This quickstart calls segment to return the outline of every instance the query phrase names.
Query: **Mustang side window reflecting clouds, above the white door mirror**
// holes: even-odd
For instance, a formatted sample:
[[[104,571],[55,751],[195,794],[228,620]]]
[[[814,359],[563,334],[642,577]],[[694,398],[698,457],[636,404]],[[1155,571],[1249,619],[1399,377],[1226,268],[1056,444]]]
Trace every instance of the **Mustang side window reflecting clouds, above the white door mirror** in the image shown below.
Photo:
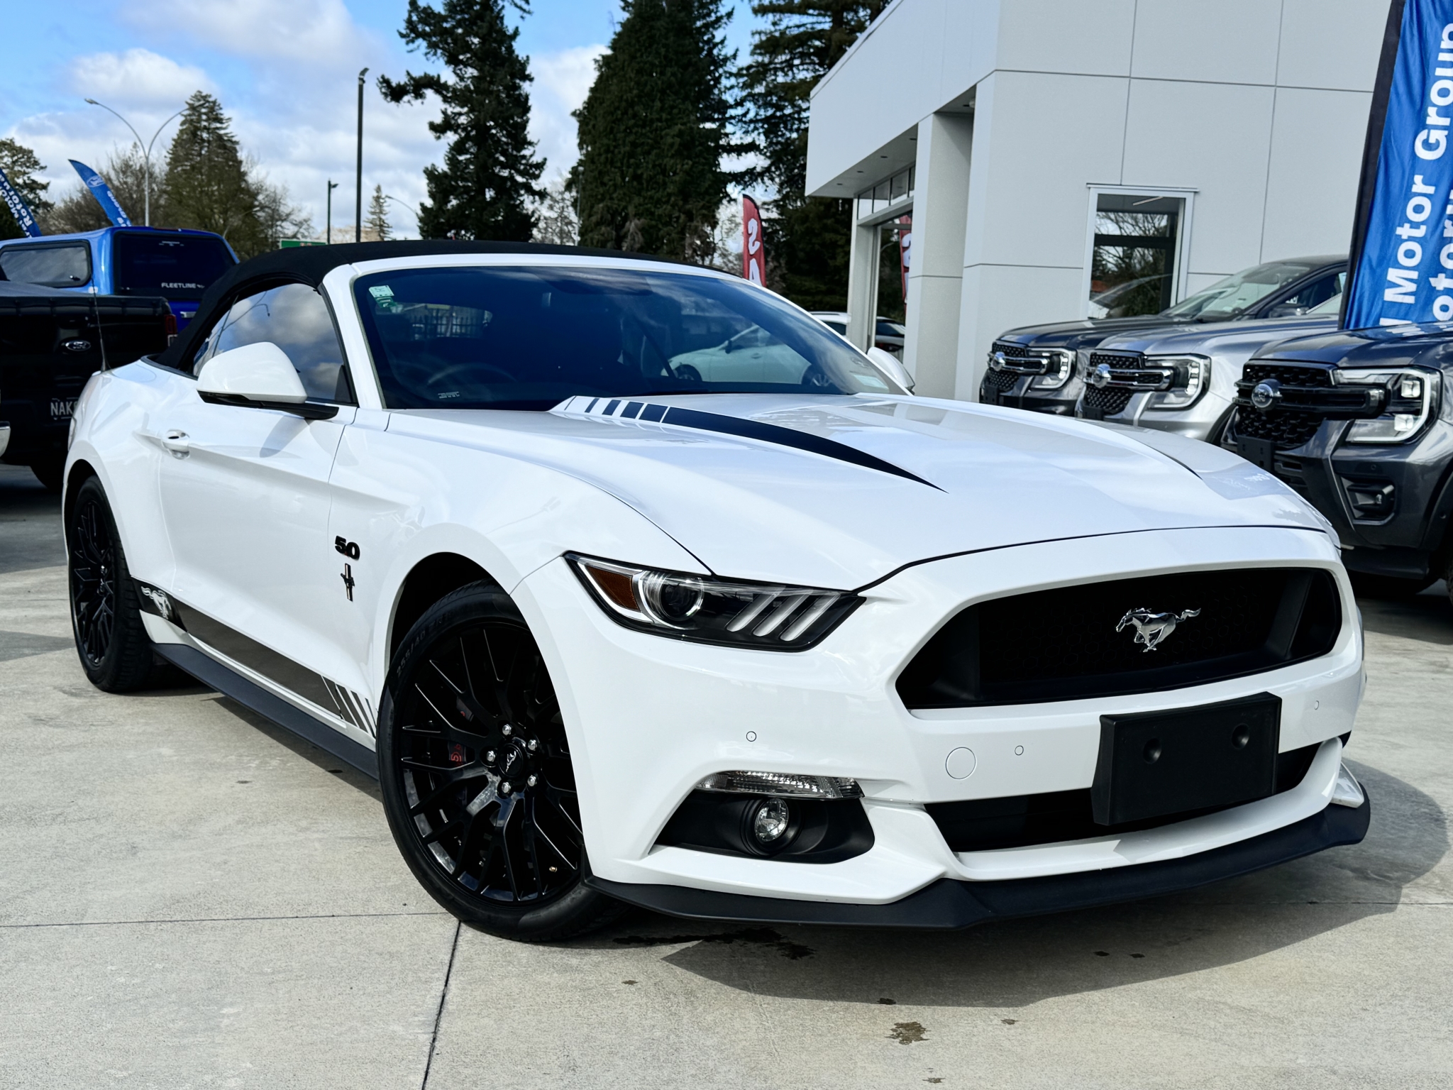
[[[201,372],[219,352],[263,340],[288,353],[309,398],[353,404],[343,347],[328,307],[304,283],[285,283],[234,302],[198,349],[193,372]]]

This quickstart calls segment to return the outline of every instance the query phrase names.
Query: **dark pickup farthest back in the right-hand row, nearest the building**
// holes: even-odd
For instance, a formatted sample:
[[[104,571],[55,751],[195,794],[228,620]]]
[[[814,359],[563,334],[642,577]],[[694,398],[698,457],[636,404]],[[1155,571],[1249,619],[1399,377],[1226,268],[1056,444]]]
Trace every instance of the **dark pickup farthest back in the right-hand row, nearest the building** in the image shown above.
[[[1090,350],[1107,337],[1191,323],[1296,317],[1340,292],[1345,275],[1345,256],[1292,257],[1242,269],[1159,314],[1008,330],[989,347],[979,401],[1071,416],[1084,389],[1077,365],[1088,365]]]

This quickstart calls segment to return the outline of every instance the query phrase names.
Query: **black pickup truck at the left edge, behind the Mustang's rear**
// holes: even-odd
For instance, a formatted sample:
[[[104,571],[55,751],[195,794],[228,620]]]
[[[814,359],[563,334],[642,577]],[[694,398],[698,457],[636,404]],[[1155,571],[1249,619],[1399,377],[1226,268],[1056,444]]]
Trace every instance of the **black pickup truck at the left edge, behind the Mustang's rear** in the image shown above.
[[[0,461],[29,465],[60,491],[71,410],[86,379],[161,352],[174,334],[161,298],[0,280]]]

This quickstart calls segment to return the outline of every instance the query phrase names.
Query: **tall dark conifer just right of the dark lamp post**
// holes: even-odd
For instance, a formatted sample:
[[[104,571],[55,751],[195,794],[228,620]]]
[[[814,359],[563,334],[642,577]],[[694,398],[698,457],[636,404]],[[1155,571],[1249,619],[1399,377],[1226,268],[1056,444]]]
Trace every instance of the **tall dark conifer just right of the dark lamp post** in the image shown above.
[[[525,0],[511,4],[529,13]],[[545,196],[536,186],[545,160],[535,158],[529,138],[532,77],[514,51],[519,35],[504,22],[504,0],[443,0],[442,9],[408,0],[400,38],[443,62],[449,76],[384,76],[378,87],[389,102],[421,100],[432,92],[443,106],[439,121],[429,122],[436,138],[449,138],[449,148],[442,167],[424,167],[424,238],[523,243],[535,228],[530,205]]]

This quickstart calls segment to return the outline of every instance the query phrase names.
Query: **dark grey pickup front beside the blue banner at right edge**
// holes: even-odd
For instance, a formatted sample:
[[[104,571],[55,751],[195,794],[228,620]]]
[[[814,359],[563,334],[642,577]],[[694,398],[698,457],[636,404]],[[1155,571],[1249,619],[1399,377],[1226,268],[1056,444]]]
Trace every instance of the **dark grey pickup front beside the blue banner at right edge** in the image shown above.
[[[1450,395],[1453,323],[1283,340],[1242,368],[1222,445],[1328,517],[1364,590],[1414,593],[1453,562]]]

